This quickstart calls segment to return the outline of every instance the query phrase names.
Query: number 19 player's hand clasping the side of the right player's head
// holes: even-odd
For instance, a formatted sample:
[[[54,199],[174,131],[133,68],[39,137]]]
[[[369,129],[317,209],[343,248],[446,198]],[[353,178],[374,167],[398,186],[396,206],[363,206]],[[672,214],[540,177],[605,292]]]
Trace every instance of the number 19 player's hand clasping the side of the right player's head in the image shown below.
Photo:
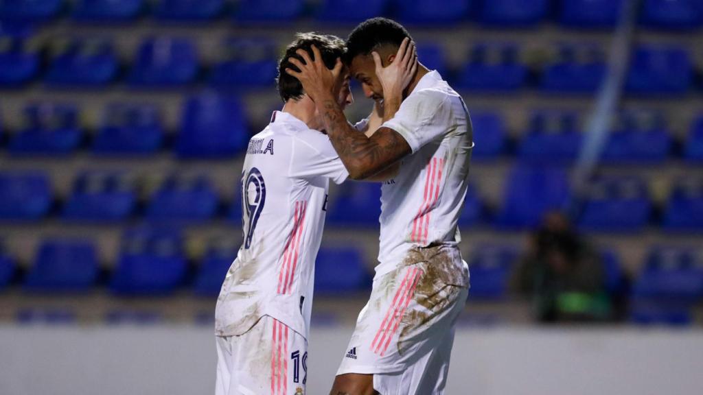
[[[406,37],[401,42],[392,63],[386,67],[383,67],[378,52],[373,51],[371,56],[376,66],[376,75],[383,87],[384,96],[401,96],[418,70],[418,56],[415,51],[415,43]]]

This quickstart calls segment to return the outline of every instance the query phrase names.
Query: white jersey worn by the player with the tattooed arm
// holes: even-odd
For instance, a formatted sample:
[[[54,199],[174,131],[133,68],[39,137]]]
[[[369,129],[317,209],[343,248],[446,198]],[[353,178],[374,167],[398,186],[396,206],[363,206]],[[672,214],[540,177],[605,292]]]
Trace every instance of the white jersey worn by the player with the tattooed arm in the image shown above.
[[[396,268],[413,246],[458,245],[473,148],[466,105],[437,71],[420,79],[382,127],[401,134],[413,153],[381,188],[376,277]]]

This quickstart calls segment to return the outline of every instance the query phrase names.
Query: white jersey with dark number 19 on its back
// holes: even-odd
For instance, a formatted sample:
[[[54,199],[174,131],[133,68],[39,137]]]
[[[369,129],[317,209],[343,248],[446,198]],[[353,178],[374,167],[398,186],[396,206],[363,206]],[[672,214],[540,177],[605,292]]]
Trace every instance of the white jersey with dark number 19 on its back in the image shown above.
[[[329,180],[348,175],[328,136],[287,112],[250,139],[244,240],[217,298],[216,335],[242,335],[266,315],[308,337]]]

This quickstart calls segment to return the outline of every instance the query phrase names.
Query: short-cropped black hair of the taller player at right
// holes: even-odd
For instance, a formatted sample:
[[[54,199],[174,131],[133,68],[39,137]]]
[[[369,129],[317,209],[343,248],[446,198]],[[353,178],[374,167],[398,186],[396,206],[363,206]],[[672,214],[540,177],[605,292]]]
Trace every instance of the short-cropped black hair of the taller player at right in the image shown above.
[[[348,65],[356,56],[369,55],[380,46],[392,45],[397,48],[406,37],[413,39],[405,27],[394,20],[380,17],[367,19],[349,33],[344,63]]]

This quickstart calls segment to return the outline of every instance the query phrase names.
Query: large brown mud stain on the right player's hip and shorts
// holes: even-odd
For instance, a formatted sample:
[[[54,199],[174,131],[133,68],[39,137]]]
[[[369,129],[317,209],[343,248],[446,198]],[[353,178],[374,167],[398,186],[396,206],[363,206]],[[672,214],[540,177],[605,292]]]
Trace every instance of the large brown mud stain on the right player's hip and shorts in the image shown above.
[[[460,254],[452,247],[437,245],[415,247],[408,252],[403,266],[415,266],[423,271],[413,294],[413,302],[401,318],[398,352],[403,354],[418,334],[431,330],[444,316],[463,287],[468,286],[468,275]]]

